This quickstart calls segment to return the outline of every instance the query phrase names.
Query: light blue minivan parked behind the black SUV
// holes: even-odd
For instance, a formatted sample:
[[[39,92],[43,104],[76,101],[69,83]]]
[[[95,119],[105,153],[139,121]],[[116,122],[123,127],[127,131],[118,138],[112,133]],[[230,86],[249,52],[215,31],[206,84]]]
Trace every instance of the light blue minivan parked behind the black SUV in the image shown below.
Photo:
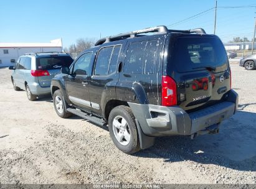
[[[14,90],[26,90],[27,98],[34,101],[37,95],[50,93],[52,78],[60,73],[60,68],[69,67],[72,62],[67,53],[26,53],[14,67],[9,67],[14,70],[11,75]]]

